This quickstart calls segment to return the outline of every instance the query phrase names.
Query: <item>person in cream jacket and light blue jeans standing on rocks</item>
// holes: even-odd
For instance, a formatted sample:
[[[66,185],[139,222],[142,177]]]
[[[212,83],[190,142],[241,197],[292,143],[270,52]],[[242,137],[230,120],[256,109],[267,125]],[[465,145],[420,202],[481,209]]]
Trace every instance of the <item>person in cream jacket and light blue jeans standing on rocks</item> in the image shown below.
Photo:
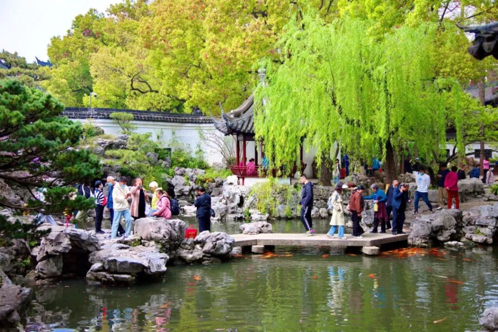
[[[120,224],[121,218],[126,221],[126,231],[123,237],[129,236],[131,233],[131,225],[133,224],[133,219],[130,216],[128,198],[131,197],[128,186],[126,186],[126,177],[122,176],[120,182],[116,183],[113,188],[113,207],[114,207],[114,219],[111,227],[111,237],[116,238],[118,234],[118,225]]]

